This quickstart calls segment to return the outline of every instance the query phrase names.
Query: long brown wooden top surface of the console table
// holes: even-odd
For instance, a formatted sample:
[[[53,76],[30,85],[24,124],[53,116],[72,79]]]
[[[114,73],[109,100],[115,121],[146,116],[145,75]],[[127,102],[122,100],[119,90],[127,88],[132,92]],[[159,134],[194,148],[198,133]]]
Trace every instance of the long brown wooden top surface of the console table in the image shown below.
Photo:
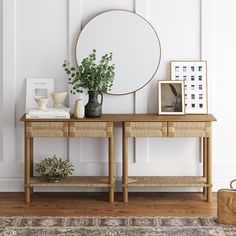
[[[212,114],[194,114],[194,115],[157,115],[157,114],[103,114],[96,118],[82,118],[76,119],[71,115],[70,119],[54,119],[54,118],[41,118],[41,119],[26,119],[26,115],[20,118],[23,122],[211,122],[216,121]]]

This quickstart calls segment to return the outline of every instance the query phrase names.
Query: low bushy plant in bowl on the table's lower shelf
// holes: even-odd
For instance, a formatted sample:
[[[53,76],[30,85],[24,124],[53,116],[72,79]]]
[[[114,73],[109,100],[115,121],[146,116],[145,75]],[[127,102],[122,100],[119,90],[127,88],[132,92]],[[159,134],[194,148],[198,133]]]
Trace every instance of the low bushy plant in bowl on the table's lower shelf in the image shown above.
[[[73,165],[66,160],[53,157],[45,158],[36,164],[36,171],[49,182],[58,182],[68,175],[72,175]]]

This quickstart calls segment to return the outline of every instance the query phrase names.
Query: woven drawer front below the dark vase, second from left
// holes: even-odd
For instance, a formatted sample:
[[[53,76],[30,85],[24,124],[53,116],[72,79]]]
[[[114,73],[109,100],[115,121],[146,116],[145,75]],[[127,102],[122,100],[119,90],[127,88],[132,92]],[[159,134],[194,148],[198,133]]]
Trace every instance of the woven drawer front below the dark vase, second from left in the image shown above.
[[[70,122],[70,137],[111,137],[112,122]]]

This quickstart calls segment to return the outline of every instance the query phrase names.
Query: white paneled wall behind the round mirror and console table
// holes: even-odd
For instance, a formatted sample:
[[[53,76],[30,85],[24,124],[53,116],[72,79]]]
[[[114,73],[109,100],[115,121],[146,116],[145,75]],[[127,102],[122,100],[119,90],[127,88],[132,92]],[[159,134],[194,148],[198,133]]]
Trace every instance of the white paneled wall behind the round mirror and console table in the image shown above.
[[[236,41],[233,33],[236,16],[231,10],[236,7],[234,0],[2,0],[1,3],[0,191],[23,190],[23,125],[19,118],[25,110],[25,79],[53,77],[56,91],[68,90],[62,68],[64,59],[75,63],[75,43],[83,26],[97,14],[113,9],[135,12],[153,25],[160,38],[162,59],[156,76],[142,90],[124,96],[105,95],[103,113],[156,113],[157,80],[170,78],[169,61],[208,60],[209,112],[220,118],[213,134],[214,190],[225,187],[234,177],[234,143],[227,140],[233,124],[233,116],[229,114],[234,110],[235,99],[231,95],[234,86],[229,86],[227,81],[222,83],[222,78],[232,80],[234,76],[235,53],[231,52]],[[130,78],[129,82],[134,79]],[[69,98],[71,107],[74,99]],[[83,100],[86,103],[86,95]],[[121,137],[121,124],[117,124],[115,168],[118,177],[121,176]],[[131,175],[201,174],[197,139],[137,138],[130,140],[129,147]],[[79,175],[102,175],[107,173],[106,151],[105,139],[70,139],[69,142],[37,139],[35,162],[57,154],[68,158]]]

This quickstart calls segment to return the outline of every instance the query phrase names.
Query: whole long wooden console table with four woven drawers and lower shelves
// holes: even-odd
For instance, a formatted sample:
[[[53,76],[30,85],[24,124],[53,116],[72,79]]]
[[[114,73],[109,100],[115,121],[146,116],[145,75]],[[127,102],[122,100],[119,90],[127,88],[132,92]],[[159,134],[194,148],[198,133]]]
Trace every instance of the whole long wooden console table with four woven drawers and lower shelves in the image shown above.
[[[108,187],[114,201],[113,124],[123,124],[123,200],[128,202],[128,187],[203,187],[207,201],[212,198],[212,122],[213,115],[158,116],[156,114],[104,114],[83,119],[20,119],[25,125],[25,202],[30,202],[34,187]],[[33,139],[37,137],[107,137],[108,176],[72,176],[59,183],[48,183],[33,176]],[[128,138],[197,137],[203,143],[202,176],[128,176]]]

